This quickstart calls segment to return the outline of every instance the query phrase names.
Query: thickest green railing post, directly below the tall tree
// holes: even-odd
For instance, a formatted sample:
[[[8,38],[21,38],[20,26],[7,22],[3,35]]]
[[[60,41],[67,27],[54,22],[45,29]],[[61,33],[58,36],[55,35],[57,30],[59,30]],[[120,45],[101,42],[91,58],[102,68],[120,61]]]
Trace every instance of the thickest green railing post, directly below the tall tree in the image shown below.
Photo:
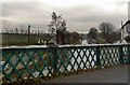
[[[56,47],[52,47],[52,51],[53,51],[53,73],[54,73],[54,76],[55,76],[56,73],[57,73],[57,67],[56,67],[56,63],[57,63]]]

